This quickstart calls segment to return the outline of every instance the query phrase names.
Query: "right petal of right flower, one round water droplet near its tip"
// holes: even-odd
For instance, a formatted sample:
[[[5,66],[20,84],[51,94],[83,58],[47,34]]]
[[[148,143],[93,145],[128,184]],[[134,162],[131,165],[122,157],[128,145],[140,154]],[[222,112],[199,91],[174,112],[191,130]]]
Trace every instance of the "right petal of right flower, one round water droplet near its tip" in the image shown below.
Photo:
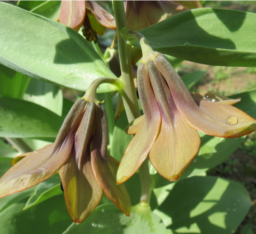
[[[200,101],[195,103],[172,65],[162,56],[154,59],[172,93],[183,119],[192,128],[215,137],[234,138],[256,130],[256,120],[233,106]]]

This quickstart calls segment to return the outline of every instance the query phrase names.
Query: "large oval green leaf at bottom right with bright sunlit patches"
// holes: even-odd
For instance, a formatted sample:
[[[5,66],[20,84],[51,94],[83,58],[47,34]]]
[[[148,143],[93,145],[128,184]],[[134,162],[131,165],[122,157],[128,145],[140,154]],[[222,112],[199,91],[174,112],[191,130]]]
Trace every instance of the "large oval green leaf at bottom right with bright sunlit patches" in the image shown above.
[[[156,213],[174,233],[231,234],[250,203],[246,189],[232,180],[192,177],[175,183]]]

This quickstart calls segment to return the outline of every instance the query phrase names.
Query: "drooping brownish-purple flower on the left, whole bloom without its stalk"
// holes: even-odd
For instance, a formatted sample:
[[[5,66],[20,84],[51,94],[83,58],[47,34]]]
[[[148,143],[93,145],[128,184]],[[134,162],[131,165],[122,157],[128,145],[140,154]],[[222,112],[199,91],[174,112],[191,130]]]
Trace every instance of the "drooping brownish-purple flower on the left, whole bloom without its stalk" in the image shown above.
[[[64,120],[55,143],[14,160],[16,164],[0,179],[0,197],[30,188],[59,171],[74,222],[83,222],[103,193],[128,216],[131,201],[125,185],[116,185],[117,168],[107,145],[104,108],[81,98]]]

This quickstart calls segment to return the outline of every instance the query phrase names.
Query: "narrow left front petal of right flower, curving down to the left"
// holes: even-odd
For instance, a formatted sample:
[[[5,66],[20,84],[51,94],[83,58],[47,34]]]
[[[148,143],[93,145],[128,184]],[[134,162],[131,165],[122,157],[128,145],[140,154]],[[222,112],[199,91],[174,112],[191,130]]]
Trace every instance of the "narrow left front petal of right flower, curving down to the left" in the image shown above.
[[[137,78],[145,121],[125,150],[117,171],[118,184],[128,180],[139,169],[157,138],[161,124],[159,108],[151,88],[145,63],[140,63]]]

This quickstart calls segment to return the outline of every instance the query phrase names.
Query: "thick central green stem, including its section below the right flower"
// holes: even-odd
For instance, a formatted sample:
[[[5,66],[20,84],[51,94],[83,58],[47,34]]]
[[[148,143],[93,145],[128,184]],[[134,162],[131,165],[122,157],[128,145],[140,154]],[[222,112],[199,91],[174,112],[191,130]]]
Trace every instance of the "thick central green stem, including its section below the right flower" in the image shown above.
[[[137,117],[140,117],[140,108],[138,105],[137,95],[134,86],[134,78],[131,65],[131,46],[128,45],[122,37],[121,31],[127,27],[125,8],[123,1],[113,1],[113,10],[116,19],[116,31],[118,38],[118,51],[121,65],[122,81],[125,84],[122,95],[128,122],[130,123]],[[141,181],[141,201],[149,203],[150,200],[150,174],[148,161],[140,166]]]

